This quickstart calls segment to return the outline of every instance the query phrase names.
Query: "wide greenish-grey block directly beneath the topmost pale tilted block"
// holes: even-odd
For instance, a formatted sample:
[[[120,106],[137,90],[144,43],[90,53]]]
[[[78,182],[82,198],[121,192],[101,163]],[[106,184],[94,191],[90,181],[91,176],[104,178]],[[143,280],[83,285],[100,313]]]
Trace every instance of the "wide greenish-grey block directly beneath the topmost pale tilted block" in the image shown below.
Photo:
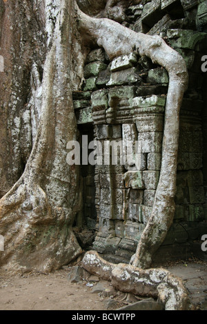
[[[136,68],[130,68],[127,70],[121,70],[118,72],[112,72],[110,74],[110,81],[106,83],[108,87],[127,85],[128,83],[141,83],[141,77],[139,77],[139,72]]]

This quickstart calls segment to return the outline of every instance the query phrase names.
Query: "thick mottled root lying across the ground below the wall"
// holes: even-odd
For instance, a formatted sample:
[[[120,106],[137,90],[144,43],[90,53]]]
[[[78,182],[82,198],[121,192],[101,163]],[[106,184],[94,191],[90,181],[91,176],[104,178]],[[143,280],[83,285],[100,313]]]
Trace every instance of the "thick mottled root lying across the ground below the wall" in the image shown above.
[[[157,298],[165,310],[190,310],[190,298],[184,282],[168,270],[143,270],[126,264],[113,264],[95,251],[87,252],[82,266],[100,279],[111,281],[115,289],[143,297]]]

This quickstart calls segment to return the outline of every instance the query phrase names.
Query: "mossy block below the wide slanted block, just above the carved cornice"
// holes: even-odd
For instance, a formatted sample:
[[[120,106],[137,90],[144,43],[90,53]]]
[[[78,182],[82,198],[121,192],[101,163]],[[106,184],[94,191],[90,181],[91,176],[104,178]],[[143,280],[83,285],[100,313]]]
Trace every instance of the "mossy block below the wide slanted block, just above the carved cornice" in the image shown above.
[[[118,88],[111,88],[108,92],[108,103],[111,108],[127,107],[135,97],[137,88],[133,85],[124,85]]]

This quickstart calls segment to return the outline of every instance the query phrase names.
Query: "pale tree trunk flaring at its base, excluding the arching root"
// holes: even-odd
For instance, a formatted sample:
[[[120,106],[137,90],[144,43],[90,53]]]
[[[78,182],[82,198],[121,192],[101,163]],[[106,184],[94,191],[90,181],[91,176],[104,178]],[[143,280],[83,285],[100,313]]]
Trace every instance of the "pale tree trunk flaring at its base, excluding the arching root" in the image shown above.
[[[6,3],[6,12],[13,13],[10,2]],[[26,1],[24,4],[28,5]],[[46,50],[41,111],[32,152],[19,181],[0,201],[1,235],[5,239],[1,265],[13,272],[47,272],[81,253],[71,230],[79,210],[79,169],[66,163],[66,145],[77,136],[72,90],[77,90],[81,82],[79,66],[83,65],[84,56],[73,7],[72,1],[59,4],[54,34],[50,34]],[[34,19],[33,12],[29,14]]]

